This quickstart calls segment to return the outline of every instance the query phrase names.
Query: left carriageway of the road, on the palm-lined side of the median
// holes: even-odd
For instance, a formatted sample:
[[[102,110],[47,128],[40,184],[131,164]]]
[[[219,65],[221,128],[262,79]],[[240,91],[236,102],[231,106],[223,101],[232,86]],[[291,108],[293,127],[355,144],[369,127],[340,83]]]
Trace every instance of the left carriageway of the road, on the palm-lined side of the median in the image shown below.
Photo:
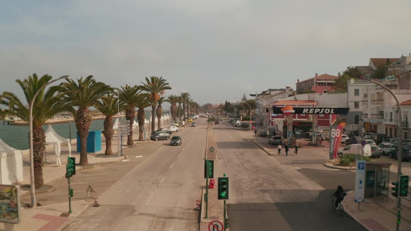
[[[181,146],[158,141],[164,145],[99,196],[100,207],[63,230],[198,230],[206,127],[181,129]]]

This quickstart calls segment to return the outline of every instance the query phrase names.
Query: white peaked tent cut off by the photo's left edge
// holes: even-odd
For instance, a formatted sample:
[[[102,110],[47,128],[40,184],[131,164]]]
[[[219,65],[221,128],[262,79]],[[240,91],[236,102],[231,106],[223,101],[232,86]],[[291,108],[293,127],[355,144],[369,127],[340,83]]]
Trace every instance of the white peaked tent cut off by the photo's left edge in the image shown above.
[[[14,149],[0,139],[0,184],[23,181],[23,151]]]

